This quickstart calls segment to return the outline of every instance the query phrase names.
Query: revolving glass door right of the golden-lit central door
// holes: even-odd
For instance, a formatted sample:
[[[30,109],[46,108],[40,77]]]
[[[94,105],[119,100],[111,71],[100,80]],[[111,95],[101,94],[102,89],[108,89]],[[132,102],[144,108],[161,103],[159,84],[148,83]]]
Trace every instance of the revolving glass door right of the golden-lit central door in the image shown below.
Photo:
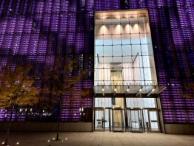
[[[128,110],[128,123],[129,131],[131,132],[143,132],[143,110],[130,109]]]

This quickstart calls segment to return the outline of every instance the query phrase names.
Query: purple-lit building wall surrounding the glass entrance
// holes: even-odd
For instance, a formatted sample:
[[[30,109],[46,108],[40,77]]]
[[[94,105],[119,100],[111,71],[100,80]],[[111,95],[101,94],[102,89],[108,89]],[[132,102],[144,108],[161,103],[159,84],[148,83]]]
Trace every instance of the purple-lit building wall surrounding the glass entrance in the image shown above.
[[[194,123],[194,100],[178,92],[194,77],[194,0],[0,0],[0,63],[6,64],[11,49],[15,60],[22,56],[21,62],[34,62],[34,69],[41,70],[73,49],[83,67],[89,68],[94,12],[141,8],[149,11],[158,82],[167,86],[161,94],[164,122]],[[92,88],[93,76],[77,87]],[[91,98],[64,100],[61,121],[82,121],[82,106],[88,110],[87,121],[92,121],[92,104]],[[5,113],[0,113],[1,120]]]

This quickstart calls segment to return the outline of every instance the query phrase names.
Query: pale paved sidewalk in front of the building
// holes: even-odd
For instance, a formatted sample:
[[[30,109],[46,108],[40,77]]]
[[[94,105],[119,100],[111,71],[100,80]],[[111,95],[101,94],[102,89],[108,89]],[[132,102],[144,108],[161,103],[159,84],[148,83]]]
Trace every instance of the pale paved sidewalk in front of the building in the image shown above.
[[[194,135],[161,133],[69,132],[52,141],[53,132],[12,132],[10,146],[194,146]],[[2,143],[5,132],[0,132]],[[48,142],[48,140],[51,140]]]

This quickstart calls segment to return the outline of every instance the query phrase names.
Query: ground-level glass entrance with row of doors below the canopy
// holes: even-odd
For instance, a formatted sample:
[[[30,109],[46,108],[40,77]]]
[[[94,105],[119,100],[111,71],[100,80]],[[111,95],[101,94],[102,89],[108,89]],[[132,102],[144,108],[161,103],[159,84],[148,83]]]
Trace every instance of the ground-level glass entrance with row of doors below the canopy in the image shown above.
[[[154,104],[155,100],[155,98],[95,98],[94,130],[160,132],[159,111]],[[126,104],[119,106],[115,104],[118,101]],[[140,104],[141,108],[134,107]]]

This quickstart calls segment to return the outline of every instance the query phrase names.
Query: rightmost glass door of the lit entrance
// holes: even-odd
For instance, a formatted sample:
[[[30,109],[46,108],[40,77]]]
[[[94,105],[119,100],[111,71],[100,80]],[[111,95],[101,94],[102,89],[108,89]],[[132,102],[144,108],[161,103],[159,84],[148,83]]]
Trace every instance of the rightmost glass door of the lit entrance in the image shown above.
[[[158,111],[148,110],[148,118],[149,118],[149,131],[150,132],[160,131],[158,123]]]

